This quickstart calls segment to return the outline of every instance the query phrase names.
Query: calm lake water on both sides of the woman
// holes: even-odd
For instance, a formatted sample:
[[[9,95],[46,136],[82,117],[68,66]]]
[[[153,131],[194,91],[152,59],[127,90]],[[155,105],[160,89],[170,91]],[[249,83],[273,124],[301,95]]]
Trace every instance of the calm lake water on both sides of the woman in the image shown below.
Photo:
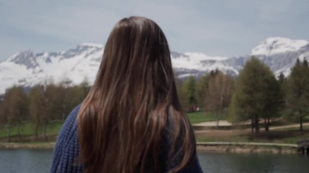
[[[280,154],[198,154],[204,172],[309,172],[309,157]],[[49,172],[51,150],[0,150],[0,172]]]

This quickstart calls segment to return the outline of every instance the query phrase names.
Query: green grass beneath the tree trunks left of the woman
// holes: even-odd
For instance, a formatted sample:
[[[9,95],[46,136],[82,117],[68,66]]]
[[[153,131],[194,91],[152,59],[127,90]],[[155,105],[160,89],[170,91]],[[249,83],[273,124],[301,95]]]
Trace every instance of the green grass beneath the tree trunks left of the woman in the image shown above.
[[[46,134],[47,135],[57,135],[62,125],[63,125],[62,121],[51,121],[47,125]],[[43,132],[44,132],[43,130],[44,130],[43,127],[39,128],[39,136],[43,135]],[[10,133],[12,137],[17,136],[18,135],[17,126],[12,126]],[[34,125],[31,122],[22,123],[20,126],[20,134],[21,136],[35,135]],[[7,137],[7,128],[6,127],[0,128],[0,138],[5,138],[5,137]]]

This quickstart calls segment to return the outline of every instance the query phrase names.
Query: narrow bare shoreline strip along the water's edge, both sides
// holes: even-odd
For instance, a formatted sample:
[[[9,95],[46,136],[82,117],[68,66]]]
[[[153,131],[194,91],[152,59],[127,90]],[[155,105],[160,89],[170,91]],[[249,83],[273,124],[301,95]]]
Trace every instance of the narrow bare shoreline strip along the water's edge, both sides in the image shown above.
[[[0,142],[0,149],[35,149],[52,150],[55,142],[17,143]],[[197,142],[197,151],[211,153],[270,153],[297,154],[297,145],[277,143],[248,143],[248,142]]]

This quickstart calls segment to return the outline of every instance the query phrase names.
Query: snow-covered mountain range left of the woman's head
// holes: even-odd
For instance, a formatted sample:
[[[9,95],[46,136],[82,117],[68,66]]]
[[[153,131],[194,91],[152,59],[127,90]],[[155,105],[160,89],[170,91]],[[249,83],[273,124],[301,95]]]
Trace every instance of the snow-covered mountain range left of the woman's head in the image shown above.
[[[63,52],[24,51],[0,62],[0,94],[12,85],[33,86],[48,80],[69,79],[79,84],[86,77],[93,82],[99,68],[103,45],[81,44]]]

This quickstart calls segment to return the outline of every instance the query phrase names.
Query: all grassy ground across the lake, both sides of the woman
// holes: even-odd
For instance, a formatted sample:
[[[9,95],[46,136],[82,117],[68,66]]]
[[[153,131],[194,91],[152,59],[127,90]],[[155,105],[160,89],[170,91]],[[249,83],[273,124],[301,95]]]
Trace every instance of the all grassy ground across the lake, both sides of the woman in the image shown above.
[[[188,117],[192,123],[199,123],[205,121],[214,121],[217,116],[215,114],[204,112],[188,113]],[[223,118],[225,119],[225,118]],[[286,122],[276,122],[276,125],[283,125]],[[51,121],[47,126],[47,136],[55,136],[59,133],[62,121]],[[303,126],[304,132],[299,132],[299,127],[290,127],[284,129],[272,129],[266,133],[261,127],[259,135],[251,134],[249,130],[240,129],[212,129],[207,130],[205,133],[197,133],[196,140],[199,142],[272,142],[272,143],[292,143],[302,139],[309,139],[309,125]],[[34,126],[31,122],[24,122],[20,126],[20,132],[23,137],[34,136]],[[43,127],[39,128],[39,136],[43,135]],[[17,126],[11,127],[11,136],[17,137]],[[0,127],[0,139],[7,137],[7,128]],[[55,138],[51,138],[49,141],[53,141]],[[40,143],[40,142],[33,142]]]

